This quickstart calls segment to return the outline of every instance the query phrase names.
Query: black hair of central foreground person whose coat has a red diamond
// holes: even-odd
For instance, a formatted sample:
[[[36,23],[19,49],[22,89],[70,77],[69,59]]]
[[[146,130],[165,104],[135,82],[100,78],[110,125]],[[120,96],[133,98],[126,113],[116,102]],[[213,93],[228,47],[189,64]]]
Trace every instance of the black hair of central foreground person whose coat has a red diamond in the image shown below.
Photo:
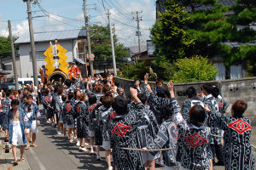
[[[113,110],[118,115],[125,115],[128,111],[128,102],[122,96],[117,96],[113,101]]]

